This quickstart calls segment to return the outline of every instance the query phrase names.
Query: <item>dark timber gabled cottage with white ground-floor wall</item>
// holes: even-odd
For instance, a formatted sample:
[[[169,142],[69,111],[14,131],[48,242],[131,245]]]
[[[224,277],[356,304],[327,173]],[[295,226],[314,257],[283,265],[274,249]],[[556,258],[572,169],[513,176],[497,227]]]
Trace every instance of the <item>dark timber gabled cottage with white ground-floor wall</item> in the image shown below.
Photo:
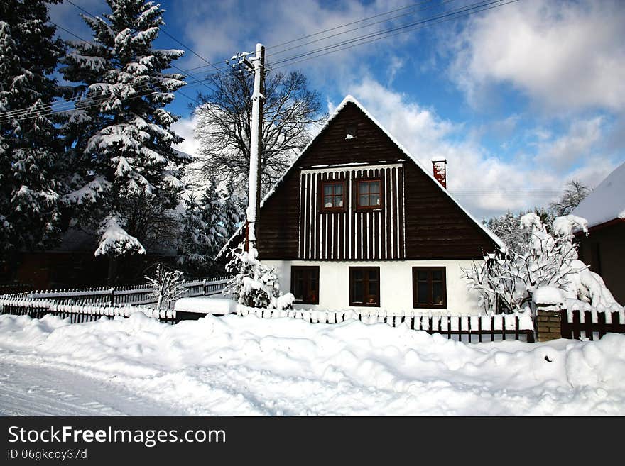
[[[445,159],[433,168],[347,96],[263,199],[259,259],[296,307],[477,311],[461,267],[502,243],[447,192]]]

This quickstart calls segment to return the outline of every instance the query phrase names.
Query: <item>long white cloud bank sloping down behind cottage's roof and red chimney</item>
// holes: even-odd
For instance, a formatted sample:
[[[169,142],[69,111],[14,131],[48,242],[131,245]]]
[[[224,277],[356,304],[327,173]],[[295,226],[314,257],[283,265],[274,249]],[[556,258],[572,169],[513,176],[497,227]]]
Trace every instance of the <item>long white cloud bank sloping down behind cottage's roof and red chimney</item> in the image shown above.
[[[464,125],[441,118],[371,78],[347,85],[344,94],[359,99],[425,170],[431,170],[433,155],[445,155],[450,192],[457,193],[457,199],[477,218],[546,206],[553,195],[538,196],[537,192],[560,190],[571,178],[594,186],[617,165],[594,150],[604,133],[600,117],[574,121],[558,138],[540,131],[533,152],[504,160],[482,148]]]

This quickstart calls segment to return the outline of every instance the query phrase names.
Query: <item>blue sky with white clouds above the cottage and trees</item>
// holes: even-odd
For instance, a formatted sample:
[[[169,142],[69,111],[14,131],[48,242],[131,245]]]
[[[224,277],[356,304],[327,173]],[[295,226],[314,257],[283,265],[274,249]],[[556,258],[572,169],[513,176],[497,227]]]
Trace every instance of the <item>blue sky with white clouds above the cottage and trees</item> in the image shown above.
[[[625,162],[625,2],[509,1],[163,1],[169,35],[156,45],[186,50],[176,65],[192,69],[181,91],[194,97],[216,72],[207,61],[223,67],[256,42],[276,63],[413,25],[276,68],[302,70],[328,111],[352,94],[426,167],[445,155],[450,191],[482,218],[546,205],[569,179],[594,187]],[[491,8],[467,15],[476,2]],[[79,13],[66,1],[50,16],[88,40]],[[180,95],[172,107],[180,148],[194,152],[189,105]]]

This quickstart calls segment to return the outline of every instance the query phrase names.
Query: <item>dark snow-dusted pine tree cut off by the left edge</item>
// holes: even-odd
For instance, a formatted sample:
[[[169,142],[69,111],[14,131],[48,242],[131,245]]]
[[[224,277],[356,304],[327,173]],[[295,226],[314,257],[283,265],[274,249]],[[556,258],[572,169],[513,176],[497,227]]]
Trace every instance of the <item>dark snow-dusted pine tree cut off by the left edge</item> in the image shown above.
[[[49,104],[64,53],[48,22],[56,0],[0,2],[0,250],[45,248],[60,232],[62,145]]]

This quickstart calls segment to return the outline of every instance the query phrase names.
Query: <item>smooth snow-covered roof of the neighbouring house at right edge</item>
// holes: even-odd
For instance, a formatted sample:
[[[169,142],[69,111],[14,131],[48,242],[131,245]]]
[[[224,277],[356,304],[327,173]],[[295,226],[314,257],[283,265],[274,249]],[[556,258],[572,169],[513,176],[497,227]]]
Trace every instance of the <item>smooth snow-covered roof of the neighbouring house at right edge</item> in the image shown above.
[[[625,162],[616,167],[572,213],[585,218],[588,228],[616,218],[625,219]]]

